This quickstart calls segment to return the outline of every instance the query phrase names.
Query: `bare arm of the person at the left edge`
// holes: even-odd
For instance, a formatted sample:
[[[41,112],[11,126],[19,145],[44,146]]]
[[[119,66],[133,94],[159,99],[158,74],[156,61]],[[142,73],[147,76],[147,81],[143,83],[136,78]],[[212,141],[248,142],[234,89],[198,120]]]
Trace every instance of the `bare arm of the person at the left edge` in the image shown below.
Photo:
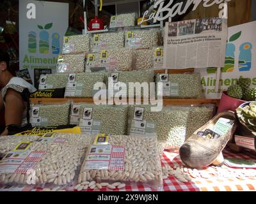
[[[8,89],[5,95],[5,124],[6,126],[15,124],[20,126],[22,123],[22,115],[24,111],[24,103],[20,96],[20,93],[13,89]],[[3,135],[8,135],[8,129],[6,128]]]

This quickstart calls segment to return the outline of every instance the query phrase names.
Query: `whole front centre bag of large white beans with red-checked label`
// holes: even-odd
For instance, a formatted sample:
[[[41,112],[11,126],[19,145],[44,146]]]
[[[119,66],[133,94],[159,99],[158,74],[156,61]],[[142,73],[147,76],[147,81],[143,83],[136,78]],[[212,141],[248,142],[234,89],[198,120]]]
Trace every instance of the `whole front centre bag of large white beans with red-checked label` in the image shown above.
[[[93,180],[108,183],[110,189],[115,189],[113,183],[120,182],[161,190],[163,175],[156,136],[95,136],[77,183],[83,185]]]

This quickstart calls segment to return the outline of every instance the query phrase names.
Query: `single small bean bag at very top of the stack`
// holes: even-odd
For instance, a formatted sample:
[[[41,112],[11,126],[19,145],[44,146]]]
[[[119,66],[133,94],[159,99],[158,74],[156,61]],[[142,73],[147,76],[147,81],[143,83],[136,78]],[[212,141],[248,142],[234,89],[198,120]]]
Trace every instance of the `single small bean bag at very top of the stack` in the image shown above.
[[[122,13],[113,15],[110,19],[109,27],[127,27],[134,26],[136,20],[136,13]]]

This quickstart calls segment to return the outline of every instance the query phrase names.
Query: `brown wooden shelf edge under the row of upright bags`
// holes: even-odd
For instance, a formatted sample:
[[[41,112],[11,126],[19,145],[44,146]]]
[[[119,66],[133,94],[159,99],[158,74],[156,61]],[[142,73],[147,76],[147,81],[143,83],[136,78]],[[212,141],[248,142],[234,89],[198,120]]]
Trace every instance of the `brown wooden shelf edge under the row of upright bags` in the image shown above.
[[[128,99],[126,99],[128,101]],[[75,103],[93,103],[93,98],[30,98],[33,104],[61,103],[74,101]],[[141,99],[143,102],[143,99]],[[214,103],[219,105],[220,99],[163,99],[164,105],[200,105],[204,103]]]

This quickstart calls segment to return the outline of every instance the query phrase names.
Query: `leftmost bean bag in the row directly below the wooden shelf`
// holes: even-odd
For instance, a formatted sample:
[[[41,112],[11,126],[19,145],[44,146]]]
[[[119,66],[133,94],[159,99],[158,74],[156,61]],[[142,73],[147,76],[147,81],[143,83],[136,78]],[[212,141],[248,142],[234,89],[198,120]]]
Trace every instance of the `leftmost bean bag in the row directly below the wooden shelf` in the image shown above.
[[[70,103],[30,105],[30,123],[33,127],[61,126],[68,124]]]

